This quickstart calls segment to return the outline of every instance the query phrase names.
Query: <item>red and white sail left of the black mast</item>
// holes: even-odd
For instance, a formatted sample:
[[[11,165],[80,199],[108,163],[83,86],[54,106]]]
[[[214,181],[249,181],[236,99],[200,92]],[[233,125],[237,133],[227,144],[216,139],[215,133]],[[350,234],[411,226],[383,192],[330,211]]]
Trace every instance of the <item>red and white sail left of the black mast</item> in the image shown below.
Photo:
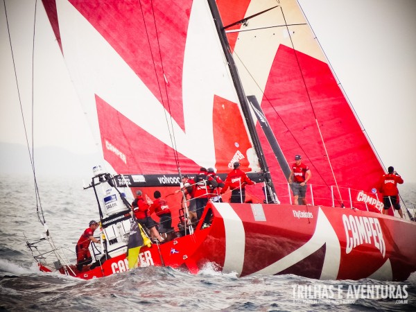
[[[207,3],[58,1],[56,15],[71,78],[116,173],[227,172],[235,160],[259,171]]]

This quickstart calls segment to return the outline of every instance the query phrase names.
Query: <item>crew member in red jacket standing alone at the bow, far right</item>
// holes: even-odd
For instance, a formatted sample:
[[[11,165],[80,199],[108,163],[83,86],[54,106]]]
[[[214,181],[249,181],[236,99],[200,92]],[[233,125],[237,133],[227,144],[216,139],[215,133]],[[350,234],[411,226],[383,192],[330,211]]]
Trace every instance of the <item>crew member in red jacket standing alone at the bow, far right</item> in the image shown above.
[[[388,214],[388,209],[393,206],[399,212],[401,218],[403,218],[399,200],[399,189],[397,189],[397,183],[403,184],[403,182],[399,173],[392,166],[388,167],[388,174],[380,178],[378,189],[383,194],[383,214]]]

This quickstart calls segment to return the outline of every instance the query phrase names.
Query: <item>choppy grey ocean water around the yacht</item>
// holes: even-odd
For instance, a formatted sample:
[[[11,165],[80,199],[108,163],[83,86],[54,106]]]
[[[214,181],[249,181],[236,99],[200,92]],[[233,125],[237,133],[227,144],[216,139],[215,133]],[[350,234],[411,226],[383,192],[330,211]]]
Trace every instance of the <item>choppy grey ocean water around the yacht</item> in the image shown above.
[[[37,182],[55,243],[74,250],[89,220],[98,216],[94,192],[84,191],[76,178]],[[405,184],[401,196],[411,207],[416,184]],[[416,311],[416,273],[406,281],[383,282],[238,278],[210,266],[198,275],[148,267],[90,281],[39,272],[25,245],[25,237],[35,241],[42,232],[33,177],[0,176],[0,201],[0,311]],[[394,288],[395,295],[383,297],[381,291],[371,297],[371,287]]]

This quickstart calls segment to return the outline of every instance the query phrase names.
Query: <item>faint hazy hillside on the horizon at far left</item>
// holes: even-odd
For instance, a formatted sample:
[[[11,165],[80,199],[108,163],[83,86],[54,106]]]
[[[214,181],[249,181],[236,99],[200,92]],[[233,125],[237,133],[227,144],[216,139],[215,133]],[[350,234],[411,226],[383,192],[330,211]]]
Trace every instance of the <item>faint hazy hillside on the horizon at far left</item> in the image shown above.
[[[103,163],[98,153],[79,155],[57,147],[35,148],[34,156],[35,171],[40,176],[89,177],[92,167]],[[28,148],[0,142],[0,173],[32,174]]]

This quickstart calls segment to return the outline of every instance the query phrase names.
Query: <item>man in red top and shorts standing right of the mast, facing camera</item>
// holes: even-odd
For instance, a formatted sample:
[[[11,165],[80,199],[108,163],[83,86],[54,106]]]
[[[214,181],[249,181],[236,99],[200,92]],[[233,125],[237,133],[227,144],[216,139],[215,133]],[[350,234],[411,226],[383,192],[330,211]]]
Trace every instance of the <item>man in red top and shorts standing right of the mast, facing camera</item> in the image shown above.
[[[306,182],[311,179],[312,174],[309,166],[302,164],[302,157],[295,156],[295,164],[292,165],[291,175],[289,175],[288,182],[291,184],[293,191],[293,199],[295,205],[299,205],[297,198],[302,199],[303,205],[306,205]]]

